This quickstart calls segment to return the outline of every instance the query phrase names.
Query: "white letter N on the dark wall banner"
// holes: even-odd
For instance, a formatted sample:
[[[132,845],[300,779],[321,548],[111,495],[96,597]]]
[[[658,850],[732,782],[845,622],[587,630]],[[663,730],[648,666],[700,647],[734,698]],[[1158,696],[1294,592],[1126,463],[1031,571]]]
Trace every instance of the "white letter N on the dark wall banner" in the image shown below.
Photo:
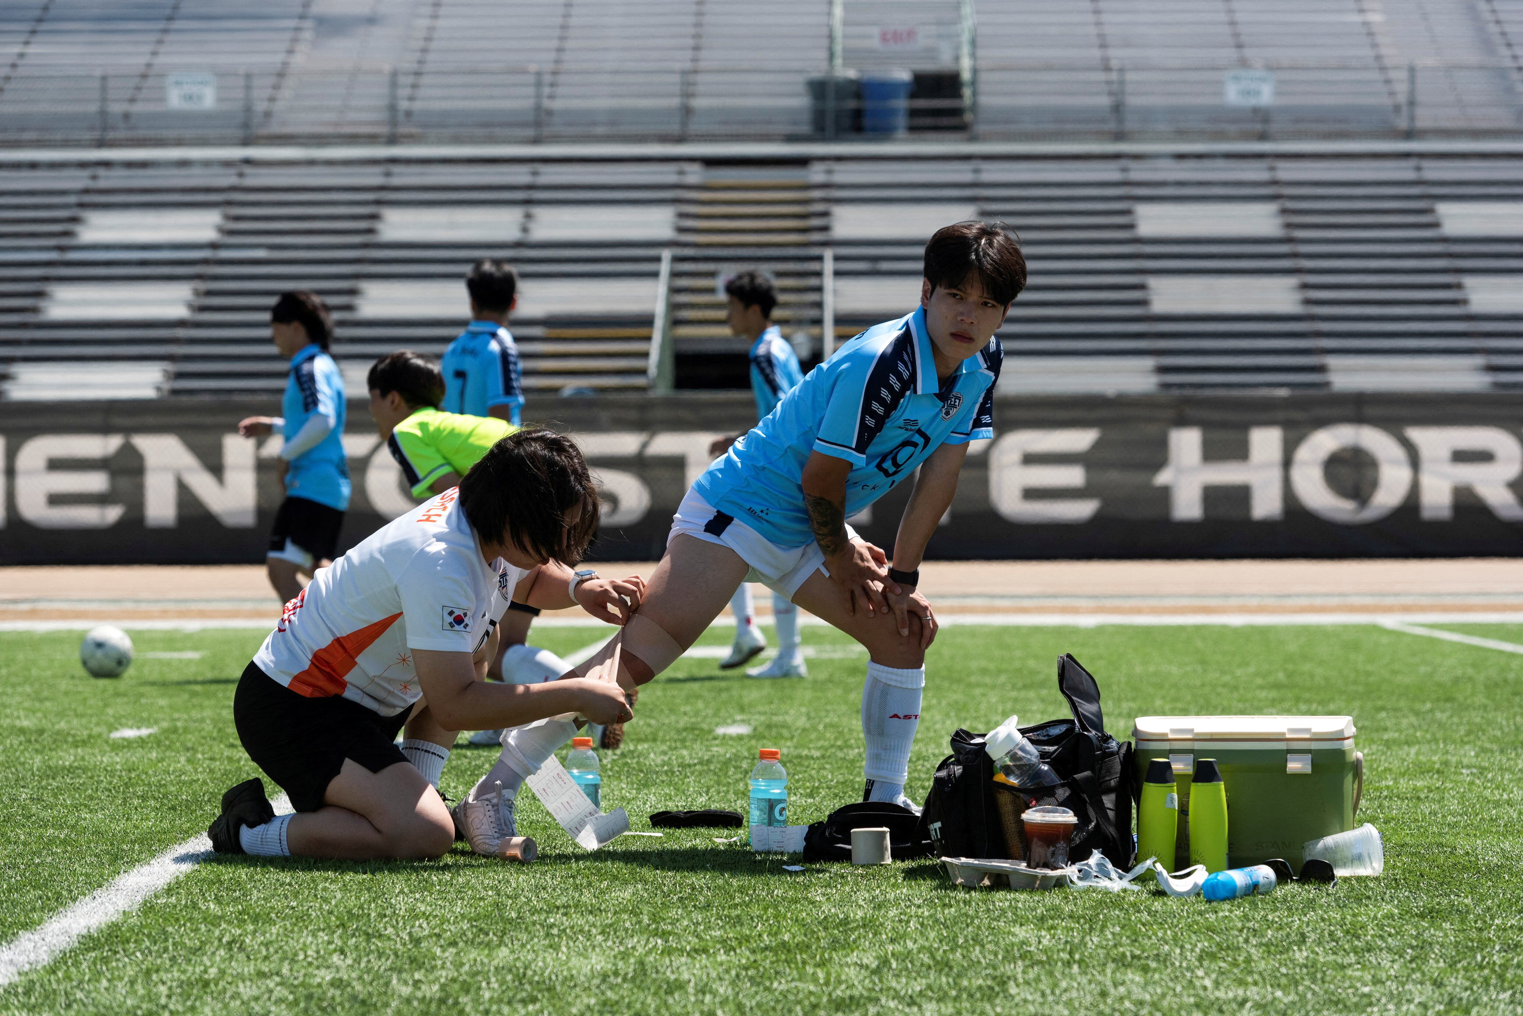
[[[201,464],[174,433],[134,433],[133,447],[143,456],[143,525],[174,529],[180,525],[180,484],[228,529],[250,529],[257,514],[254,443],[222,435],[222,479]]]

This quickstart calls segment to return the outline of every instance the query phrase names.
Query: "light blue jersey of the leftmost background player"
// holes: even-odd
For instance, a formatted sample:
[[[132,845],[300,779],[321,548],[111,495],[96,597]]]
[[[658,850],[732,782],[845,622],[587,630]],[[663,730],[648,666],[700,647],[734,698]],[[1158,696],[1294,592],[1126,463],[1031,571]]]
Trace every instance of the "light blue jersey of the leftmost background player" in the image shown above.
[[[317,342],[302,347],[291,357],[291,376],[280,400],[286,440],[295,437],[314,414],[334,421],[321,441],[291,459],[286,468],[286,496],[306,497],[320,505],[347,511],[349,461],[344,456],[344,376],[334,357]]]

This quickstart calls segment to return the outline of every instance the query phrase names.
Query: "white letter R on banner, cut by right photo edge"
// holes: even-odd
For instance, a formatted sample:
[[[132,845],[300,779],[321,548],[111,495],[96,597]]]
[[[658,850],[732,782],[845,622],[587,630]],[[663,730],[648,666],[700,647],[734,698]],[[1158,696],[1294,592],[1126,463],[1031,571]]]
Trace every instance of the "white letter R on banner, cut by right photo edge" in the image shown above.
[[[1407,427],[1418,450],[1418,506],[1424,522],[1454,517],[1454,488],[1468,487],[1503,522],[1523,522],[1508,487],[1523,473],[1523,444],[1502,427]],[[1456,452],[1485,452],[1488,462],[1456,462]]]

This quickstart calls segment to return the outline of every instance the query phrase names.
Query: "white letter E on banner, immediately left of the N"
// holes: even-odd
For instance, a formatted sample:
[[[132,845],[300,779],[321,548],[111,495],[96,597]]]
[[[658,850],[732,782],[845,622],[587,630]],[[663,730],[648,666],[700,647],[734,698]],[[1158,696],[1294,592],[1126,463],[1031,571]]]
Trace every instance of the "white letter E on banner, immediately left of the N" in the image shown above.
[[[105,502],[55,505],[53,494],[107,494],[104,468],[50,468],[52,459],[108,459],[120,433],[43,433],[15,453],[15,511],[38,529],[107,529],[126,511]]]

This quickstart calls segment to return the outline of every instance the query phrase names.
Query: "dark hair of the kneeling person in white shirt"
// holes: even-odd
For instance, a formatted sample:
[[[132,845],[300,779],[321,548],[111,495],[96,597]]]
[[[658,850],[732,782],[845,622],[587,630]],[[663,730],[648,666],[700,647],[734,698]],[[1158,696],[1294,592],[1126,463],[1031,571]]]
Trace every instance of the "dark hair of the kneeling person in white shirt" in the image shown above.
[[[565,514],[582,505],[573,525]],[[599,502],[592,475],[576,443],[525,427],[483,455],[460,481],[460,508],[483,538],[504,537],[536,557],[576,564],[597,532]]]

